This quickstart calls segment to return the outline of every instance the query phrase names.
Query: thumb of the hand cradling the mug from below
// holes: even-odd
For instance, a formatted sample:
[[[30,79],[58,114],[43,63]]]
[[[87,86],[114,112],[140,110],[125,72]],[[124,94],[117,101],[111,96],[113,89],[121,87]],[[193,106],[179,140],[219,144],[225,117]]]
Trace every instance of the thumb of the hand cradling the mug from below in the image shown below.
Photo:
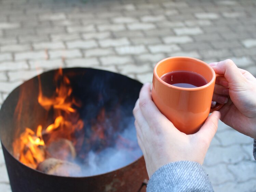
[[[200,130],[196,133],[199,138],[206,141],[209,145],[217,132],[218,121],[220,119],[220,112],[214,111],[211,116],[209,116]]]

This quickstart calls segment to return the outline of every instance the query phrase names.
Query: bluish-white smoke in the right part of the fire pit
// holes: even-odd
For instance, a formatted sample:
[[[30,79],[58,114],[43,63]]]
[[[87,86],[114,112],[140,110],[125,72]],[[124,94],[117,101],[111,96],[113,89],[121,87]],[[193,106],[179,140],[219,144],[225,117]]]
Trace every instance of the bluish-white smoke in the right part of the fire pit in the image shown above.
[[[111,172],[129,165],[142,156],[142,151],[137,144],[133,122],[130,121],[129,126],[119,134],[115,141],[116,145],[98,153],[91,150],[84,163],[79,163],[82,169],[82,175],[79,176],[93,176]]]

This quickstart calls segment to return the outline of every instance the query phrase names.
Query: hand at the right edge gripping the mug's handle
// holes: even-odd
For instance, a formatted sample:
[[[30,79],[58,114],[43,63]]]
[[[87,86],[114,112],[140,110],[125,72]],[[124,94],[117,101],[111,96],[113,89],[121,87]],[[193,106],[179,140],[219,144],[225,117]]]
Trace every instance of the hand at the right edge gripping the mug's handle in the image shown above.
[[[256,78],[239,69],[230,59],[209,65],[225,77],[216,78],[213,95],[213,101],[226,103],[219,110],[220,120],[256,139]]]

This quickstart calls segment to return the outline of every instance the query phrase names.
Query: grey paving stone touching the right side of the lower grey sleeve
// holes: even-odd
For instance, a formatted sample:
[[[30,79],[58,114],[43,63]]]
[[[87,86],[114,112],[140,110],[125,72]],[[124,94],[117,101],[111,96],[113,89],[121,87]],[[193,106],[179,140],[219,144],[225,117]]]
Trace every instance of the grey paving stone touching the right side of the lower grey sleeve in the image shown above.
[[[204,166],[204,169],[214,185],[235,180],[235,177],[227,169],[226,164],[218,164],[212,167]]]

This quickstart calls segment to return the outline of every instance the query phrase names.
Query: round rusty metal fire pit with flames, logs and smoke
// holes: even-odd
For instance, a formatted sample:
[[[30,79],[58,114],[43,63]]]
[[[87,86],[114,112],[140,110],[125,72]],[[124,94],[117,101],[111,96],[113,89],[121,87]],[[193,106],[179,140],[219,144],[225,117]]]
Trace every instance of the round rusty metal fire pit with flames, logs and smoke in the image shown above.
[[[145,191],[132,109],[142,84],[90,68],[52,70],[0,110],[13,192]]]

